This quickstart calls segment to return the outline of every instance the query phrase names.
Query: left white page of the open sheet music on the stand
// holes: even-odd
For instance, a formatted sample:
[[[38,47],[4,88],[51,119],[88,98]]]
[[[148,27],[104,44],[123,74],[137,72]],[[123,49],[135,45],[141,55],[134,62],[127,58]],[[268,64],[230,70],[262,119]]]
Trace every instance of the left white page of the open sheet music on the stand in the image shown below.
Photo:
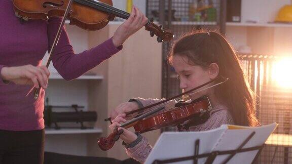
[[[162,133],[149,154],[145,163],[150,164],[155,159],[169,159],[194,155],[195,141],[200,139],[199,154],[208,153],[214,147],[226,129],[218,128],[203,132],[165,132]],[[201,158],[198,163],[204,163]],[[193,160],[173,162],[175,164],[193,164]]]

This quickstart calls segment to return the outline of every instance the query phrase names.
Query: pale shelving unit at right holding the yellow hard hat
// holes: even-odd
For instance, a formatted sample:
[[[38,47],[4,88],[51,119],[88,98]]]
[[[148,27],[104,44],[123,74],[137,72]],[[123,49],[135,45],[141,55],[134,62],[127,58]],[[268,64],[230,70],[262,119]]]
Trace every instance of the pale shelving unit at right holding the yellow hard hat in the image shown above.
[[[292,52],[289,35],[292,24],[274,23],[278,11],[285,5],[291,5],[291,1],[242,0],[241,22],[226,23],[228,40],[239,53],[289,55]]]

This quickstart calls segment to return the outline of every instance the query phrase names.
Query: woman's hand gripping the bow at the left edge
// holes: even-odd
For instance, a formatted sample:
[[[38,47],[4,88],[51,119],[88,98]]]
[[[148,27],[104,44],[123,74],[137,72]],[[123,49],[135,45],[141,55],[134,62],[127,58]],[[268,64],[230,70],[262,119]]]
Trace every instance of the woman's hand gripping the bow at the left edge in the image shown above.
[[[24,65],[17,67],[3,67],[3,80],[12,81],[17,85],[33,85],[35,88],[47,88],[50,72],[46,66]]]

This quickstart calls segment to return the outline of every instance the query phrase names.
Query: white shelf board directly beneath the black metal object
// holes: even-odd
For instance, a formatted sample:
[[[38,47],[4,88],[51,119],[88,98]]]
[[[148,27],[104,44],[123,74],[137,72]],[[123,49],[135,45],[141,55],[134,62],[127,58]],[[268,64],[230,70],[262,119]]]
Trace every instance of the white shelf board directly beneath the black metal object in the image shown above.
[[[46,135],[57,135],[57,134],[93,134],[93,133],[102,133],[101,128],[94,129],[45,129]]]

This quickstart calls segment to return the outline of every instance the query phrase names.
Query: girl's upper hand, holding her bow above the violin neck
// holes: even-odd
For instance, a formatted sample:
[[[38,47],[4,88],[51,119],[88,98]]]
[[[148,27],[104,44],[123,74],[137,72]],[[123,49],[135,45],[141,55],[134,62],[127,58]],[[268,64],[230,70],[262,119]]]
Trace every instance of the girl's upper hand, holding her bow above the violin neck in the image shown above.
[[[116,107],[115,110],[112,110],[109,116],[112,118],[111,120],[113,121],[114,118],[116,118],[119,114],[123,114],[132,110],[138,109],[139,106],[136,102],[124,102],[121,103]],[[137,113],[133,113],[127,116],[127,119],[130,119],[131,117],[135,116]]]

